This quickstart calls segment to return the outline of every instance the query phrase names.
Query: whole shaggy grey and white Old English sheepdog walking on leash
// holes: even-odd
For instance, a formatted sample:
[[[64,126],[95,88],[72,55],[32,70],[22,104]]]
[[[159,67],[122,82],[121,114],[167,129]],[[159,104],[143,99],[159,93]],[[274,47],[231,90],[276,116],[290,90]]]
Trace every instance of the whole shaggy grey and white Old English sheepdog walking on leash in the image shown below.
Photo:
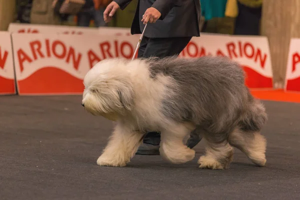
[[[105,59],[85,75],[81,104],[93,115],[116,121],[98,165],[125,166],[147,131],[161,133],[160,155],[172,163],[192,160],[182,139],[191,131],[206,141],[200,168],[225,169],[240,149],[265,165],[260,129],[264,106],[250,94],[244,71],[229,58]]]

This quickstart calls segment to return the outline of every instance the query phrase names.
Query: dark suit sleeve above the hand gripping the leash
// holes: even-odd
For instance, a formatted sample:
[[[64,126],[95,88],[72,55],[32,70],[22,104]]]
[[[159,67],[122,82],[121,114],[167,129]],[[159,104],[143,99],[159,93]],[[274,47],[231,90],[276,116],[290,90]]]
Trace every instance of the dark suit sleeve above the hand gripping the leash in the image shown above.
[[[162,20],[175,5],[180,6],[181,0],[155,0],[152,7],[160,12],[159,19]]]

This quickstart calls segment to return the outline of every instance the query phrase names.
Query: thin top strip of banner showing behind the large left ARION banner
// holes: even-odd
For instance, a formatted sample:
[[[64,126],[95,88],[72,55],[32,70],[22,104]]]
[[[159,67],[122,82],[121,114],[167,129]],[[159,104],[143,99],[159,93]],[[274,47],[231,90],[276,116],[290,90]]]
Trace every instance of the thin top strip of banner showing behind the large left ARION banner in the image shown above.
[[[103,34],[103,35],[131,35],[130,28],[123,27],[81,27],[69,25],[42,25],[30,23],[10,23],[8,31],[11,33],[59,33],[59,34]]]

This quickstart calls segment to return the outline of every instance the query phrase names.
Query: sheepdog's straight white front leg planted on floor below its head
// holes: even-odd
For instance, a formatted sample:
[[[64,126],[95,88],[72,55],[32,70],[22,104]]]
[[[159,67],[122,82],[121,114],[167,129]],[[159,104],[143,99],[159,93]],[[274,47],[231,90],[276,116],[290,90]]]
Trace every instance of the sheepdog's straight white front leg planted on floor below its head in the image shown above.
[[[117,123],[106,147],[97,159],[100,166],[125,166],[137,151],[143,135]]]

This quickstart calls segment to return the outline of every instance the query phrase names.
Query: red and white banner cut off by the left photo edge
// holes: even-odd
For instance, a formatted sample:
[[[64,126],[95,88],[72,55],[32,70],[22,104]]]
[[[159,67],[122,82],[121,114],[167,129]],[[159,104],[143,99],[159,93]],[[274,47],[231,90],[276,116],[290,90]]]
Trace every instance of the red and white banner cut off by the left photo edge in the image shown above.
[[[15,94],[10,33],[0,31],[0,94]]]

